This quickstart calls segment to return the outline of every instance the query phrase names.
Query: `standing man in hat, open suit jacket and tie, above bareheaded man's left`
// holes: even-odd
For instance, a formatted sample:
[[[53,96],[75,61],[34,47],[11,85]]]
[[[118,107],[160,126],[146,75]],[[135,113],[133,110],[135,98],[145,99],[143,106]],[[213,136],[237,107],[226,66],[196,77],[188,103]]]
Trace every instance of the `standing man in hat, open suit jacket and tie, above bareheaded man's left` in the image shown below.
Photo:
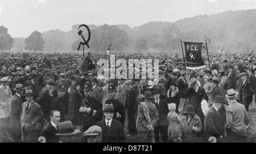
[[[23,103],[22,114],[20,116],[22,141],[23,142],[36,142],[38,137],[38,125],[43,118],[43,112],[40,105],[33,101],[35,95],[33,91],[26,90],[27,102]]]

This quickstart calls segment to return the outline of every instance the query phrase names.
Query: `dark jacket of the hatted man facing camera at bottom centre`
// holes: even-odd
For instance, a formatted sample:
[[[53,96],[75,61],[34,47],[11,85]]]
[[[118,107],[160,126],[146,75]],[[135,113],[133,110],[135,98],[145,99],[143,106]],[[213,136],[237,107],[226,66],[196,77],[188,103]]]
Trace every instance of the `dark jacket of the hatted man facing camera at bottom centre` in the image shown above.
[[[118,120],[112,119],[109,131],[106,128],[105,119],[102,119],[96,125],[102,129],[102,143],[122,143],[125,141],[123,126]]]

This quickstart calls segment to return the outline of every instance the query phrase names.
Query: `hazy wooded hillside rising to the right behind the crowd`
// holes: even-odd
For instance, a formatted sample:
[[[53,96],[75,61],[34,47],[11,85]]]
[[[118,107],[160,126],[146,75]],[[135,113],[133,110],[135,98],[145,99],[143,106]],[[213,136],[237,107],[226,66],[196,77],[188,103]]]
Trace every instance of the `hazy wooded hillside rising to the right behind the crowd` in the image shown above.
[[[214,15],[197,15],[171,22],[148,22],[130,28],[126,24],[96,26],[89,24],[91,50],[106,50],[112,40],[113,50],[160,50],[180,51],[180,39],[204,41],[210,38],[209,50],[250,51],[256,48],[256,10],[226,11]],[[80,24],[68,32],[51,30],[43,32],[44,49],[70,51],[78,47],[81,37],[77,35]],[[85,32],[86,33],[86,32]],[[86,36],[85,36],[86,38]],[[24,40],[23,40],[24,42]],[[19,45],[18,45],[19,44]],[[13,49],[23,49],[22,40],[14,39]]]

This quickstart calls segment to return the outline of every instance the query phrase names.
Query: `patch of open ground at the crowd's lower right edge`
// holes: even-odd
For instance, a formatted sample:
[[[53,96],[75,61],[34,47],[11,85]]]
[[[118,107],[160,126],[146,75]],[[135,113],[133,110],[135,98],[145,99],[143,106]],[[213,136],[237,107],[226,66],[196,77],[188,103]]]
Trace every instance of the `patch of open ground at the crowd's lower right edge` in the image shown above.
[[[256,109],[249,110],[250,126],[247,128],[247,142],[256,143]]]

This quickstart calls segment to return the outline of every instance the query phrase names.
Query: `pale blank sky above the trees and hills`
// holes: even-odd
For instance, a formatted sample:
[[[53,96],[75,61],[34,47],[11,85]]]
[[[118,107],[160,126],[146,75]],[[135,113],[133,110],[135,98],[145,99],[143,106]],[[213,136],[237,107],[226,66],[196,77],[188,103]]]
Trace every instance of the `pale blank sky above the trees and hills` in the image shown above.
[[[12,37],[59,29],[74,24],[175,22],[199,14],[256,9],[256,0],[0,0],[0,25]]]

